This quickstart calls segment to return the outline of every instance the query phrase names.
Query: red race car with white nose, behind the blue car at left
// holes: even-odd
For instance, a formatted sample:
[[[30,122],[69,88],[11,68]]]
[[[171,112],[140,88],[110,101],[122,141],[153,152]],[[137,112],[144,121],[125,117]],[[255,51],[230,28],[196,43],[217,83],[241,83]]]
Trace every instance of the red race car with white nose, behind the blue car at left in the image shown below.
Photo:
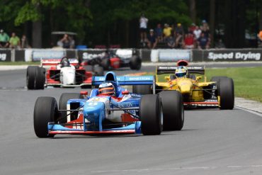
[[[51,67],[46,70],[43,66]],[[28,67],[26,85],[28,89],[44,89],[45,86],[86,88],[91,86],[93,75],[103,76],[103,67],[93,67],[91,72],[79,65],[77,59],[41,60],[40,67]]]

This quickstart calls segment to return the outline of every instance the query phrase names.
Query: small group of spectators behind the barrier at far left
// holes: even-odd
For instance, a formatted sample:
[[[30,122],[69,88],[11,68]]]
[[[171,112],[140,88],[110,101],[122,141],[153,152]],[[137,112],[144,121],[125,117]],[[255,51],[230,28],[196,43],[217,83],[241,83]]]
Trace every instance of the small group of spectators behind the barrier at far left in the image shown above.
[[[20,39],[16,33],[13,32],[11,33],[11,37],[9,37],[3,29],[0,30],[0,48],[23,49],[28,47],[30,47],[30,45],[25,35],[22,35]]]

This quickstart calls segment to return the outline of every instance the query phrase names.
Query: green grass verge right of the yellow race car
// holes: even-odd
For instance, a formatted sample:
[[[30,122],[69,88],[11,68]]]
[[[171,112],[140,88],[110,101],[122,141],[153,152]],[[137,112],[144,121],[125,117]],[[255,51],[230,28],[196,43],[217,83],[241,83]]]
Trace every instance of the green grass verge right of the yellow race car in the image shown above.
[[[148,75],[154,75],[154,73],[149,72]],[[205,69],[205,75],[207,81],[215,76],[231,77],[234,80],[235,96],[262,102],[262,67]],[[164,76],[167,74],[161,74],[159,80],[165,81]]]

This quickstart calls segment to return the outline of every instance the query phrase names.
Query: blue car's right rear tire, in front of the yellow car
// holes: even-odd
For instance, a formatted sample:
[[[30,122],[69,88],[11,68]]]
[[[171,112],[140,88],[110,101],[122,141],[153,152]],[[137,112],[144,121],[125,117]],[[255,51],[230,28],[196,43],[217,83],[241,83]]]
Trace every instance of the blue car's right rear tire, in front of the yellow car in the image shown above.
[[[164,114],[164,130],[181,130],[184,123],[183,97],[179,91],[159,93]]]

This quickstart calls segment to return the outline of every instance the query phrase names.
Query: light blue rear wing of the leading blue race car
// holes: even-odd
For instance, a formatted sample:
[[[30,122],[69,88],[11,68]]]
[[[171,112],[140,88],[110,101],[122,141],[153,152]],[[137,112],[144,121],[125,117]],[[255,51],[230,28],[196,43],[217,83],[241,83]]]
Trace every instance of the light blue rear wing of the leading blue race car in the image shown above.
[[[118,85],[154,85],[154,76],[119,76],[116,77]],[[92,86],[103,83],[106,77],[92,77]]]

